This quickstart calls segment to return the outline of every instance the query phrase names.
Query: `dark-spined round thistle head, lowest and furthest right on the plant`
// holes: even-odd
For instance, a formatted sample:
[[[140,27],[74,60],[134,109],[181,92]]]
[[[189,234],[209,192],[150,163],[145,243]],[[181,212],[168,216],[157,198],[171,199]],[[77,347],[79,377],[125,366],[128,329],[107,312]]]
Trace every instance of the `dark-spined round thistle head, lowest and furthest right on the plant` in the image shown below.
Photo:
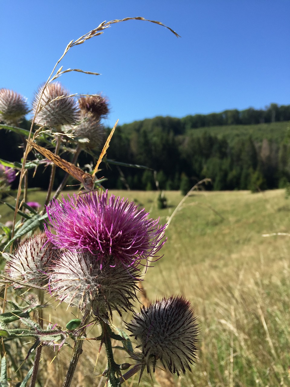
[[[195,344],[198,341],[196,317],[188,300],[180,297],[163,298],[143,307],[127,329],[135,336],[142,349],[140,362],[147,372],[155,372],[157,360],[171,373],[185,373],[196,359]],[[142,372],[145,368],[143,366]]]

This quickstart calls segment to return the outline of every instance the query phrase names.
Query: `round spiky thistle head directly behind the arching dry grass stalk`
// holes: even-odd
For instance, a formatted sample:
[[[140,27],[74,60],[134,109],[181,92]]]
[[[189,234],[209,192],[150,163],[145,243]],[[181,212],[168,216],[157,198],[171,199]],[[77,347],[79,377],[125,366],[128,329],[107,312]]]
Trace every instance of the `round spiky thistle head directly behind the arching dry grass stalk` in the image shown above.
[[[38,106],[35,122],[52,128],[78,121],[78,108],[75,99],[59,82],[49,83],[43,91],[40,87],[33,101],[33,113]]]

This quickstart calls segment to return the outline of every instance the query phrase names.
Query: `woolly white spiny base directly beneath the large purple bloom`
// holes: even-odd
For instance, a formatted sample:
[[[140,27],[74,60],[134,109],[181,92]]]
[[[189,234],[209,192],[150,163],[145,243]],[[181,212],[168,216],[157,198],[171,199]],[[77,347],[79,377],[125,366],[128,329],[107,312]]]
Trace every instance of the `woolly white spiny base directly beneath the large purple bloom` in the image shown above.
[[[89,309],[104,317],[120,309],[131,310],[130,300],[136,298],[137,271],[128,271],[123,265],[111,266],[107,260],[102,266],[88,251],[63,252],[54,267],[49,288],[60,301],[81,310]]]

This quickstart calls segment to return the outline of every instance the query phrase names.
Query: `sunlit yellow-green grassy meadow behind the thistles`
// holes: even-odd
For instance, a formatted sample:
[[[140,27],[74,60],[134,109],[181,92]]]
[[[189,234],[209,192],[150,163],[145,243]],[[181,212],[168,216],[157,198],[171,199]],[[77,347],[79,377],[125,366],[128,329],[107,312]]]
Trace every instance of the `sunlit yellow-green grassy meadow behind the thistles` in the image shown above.
[[[182,199],[180,192],[166,191],[168,206],[158,209],[158,192],[110,193],[134,200],[151,217],[160,217],[162,224]],[[29,200],[43,203],[44,198],[45,192],[29,193]],[[0,205],[2,223],[9,219],[9,212],[11,216],[11,210]],[[192,192],[176,212],[166,230],[163,256],[147,269],[143,282],[150,300],[181,294],[198,316],[199,359],[192,373],[175,378],[171,385],[290,385],[289,212],[285,190]],[[286,235],[271,235],[277,233]],[[72,313],[70,309],[63,314],[58,308],[58,318]],[[114,316],[113,323],[118,326],[121,320]],[[86,344],[76,385],[105,385],[97,377],[104,358],[100,354],[93,374],[97,348],[92,351],[92,344]],[[52,357],[50,353],[48,358]],[[62,363],[63,368],[68,361]],[[49,365],[45,385],[65,372],[52,371],[55,363]],[[136,375],[128,381],[128,385],[137,384]],[[54,385],[58,385],[56,380]],[[142,378],[141,385],[152,382]],[[156,380],[154,385],[158,385]]]

